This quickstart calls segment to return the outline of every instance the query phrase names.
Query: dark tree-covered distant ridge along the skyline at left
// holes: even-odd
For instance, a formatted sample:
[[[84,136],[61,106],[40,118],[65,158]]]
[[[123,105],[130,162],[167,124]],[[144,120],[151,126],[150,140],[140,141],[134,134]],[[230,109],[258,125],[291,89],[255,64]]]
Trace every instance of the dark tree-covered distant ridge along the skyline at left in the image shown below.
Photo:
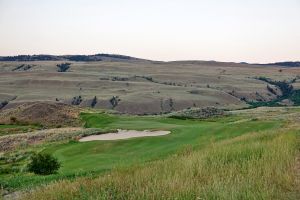
[[[0,56],[0,61],[75,61],[75,62],[92,62],[92,61],[134,61],[143,60],[135,57],[117,55],[117,54],[95,54],[95,55],[18,55],[18,56]]]

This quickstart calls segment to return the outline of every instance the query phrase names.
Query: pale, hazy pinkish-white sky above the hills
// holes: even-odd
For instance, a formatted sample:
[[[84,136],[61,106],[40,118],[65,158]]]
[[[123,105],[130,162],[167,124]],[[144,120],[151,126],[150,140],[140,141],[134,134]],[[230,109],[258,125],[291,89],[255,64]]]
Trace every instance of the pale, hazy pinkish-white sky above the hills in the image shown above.
[[[0,55],[300,60],[300,0],[0,0]]]

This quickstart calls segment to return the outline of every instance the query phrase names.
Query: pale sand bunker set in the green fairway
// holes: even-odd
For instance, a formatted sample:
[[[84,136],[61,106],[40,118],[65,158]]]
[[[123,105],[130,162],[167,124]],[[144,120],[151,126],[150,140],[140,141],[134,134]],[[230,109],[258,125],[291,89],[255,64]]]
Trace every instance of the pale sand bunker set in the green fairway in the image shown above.
[[[150,136],[161,136],[167,135],[170,131],[135,131],[135,130],[121,130],[118,129],[116,133],[106,133],[101,135],[90,135],[87,137],[81,138],[80,142],[88,142],[94,140],[121,140],[128,138],[136,138],[136,137],[150,137]]]

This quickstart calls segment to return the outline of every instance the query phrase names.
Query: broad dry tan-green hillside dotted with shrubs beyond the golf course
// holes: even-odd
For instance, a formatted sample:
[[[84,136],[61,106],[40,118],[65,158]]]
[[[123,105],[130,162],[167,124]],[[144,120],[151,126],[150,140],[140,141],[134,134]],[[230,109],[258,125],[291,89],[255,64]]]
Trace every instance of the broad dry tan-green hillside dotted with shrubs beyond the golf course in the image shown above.
[[[65,64],[62,72],[59,66]],[[52,101],[139,115],[189,107],[236,109],[281,95],[279,88],[271,92],[255,77],[295,80],[296,90],[299,75],[297,67],[204,61],[0,62],[0,107]]]

